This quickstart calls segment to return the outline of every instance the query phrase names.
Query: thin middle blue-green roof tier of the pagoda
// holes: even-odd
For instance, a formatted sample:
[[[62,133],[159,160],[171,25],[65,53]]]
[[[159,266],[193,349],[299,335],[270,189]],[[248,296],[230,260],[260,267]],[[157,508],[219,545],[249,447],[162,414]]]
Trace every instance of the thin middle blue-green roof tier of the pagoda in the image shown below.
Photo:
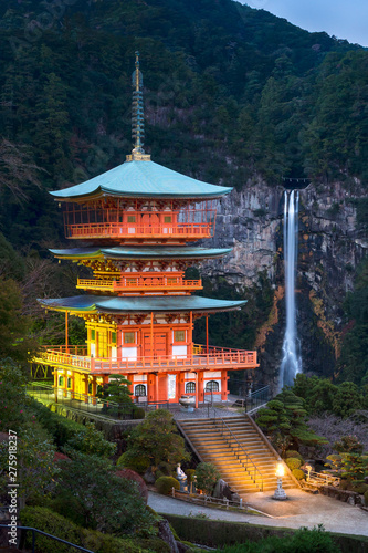
[[[232,248],[209,249],[190,247],[167,247],[167,246],[139,246],[124,247],[116,246],[105,248],[93,246],[88,248],[70,248],[64,250],[50,250],[56,258],[61,259],[198,259],[198,258],[220,258],[232,251]]]

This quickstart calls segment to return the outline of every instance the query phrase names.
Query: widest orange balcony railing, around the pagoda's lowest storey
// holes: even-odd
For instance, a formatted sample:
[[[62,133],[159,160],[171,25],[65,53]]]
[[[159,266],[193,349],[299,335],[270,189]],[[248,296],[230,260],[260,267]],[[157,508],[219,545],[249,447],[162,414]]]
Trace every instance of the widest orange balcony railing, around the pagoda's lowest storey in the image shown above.
[[[98,358],[86,355],[82,346],[44,346],[33,363],[81,369],[93,375],[169,373],[191,371],[251,369],[259,366],[256,352],[193,344],[190,355],[165,355],[137,359]]]

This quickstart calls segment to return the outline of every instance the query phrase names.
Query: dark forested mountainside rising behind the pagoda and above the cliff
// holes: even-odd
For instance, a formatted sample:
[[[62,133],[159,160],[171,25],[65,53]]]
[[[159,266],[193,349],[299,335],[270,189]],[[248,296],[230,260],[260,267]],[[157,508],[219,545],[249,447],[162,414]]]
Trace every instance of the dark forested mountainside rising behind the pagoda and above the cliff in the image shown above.
[[[64,240],[46,192],[130,152],[136,50],[155,161],[238,191],[255,176],[367,186],[368,52],[347,41],[231,0],[8,0],[0,38],[1,231],[43,293],[73,280],[43,259]]]

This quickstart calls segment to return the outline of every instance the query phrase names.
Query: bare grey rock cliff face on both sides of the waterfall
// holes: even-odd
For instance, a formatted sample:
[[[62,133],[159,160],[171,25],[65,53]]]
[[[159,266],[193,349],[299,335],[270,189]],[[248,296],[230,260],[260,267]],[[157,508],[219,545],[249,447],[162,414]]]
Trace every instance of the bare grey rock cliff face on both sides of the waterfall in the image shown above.
[[[232,247],[230,255],[203,264],[202,275],[223,276],[239,290],[257,283],[266,271],[275,290],[274,305],[259,331],[262,379],[276,382],[285,328],[282,187],[249,182],[218,204],[212,247]],[[299,191],[297,327],[303,371],[332,375],[339,353],[341,303],[353,290],[355,270],[367,251],[357,222],[356,200],[365,197],[340,182],[311,184]],[[246,290],[245,290],[246,293]],[[251,346],[251,345],[250,345]]]

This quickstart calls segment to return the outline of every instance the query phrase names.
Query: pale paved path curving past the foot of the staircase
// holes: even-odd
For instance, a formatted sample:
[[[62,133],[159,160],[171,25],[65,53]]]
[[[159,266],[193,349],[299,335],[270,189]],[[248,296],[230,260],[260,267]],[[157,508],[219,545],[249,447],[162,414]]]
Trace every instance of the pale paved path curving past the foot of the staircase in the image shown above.
[[[314,495],[301,490],[290,490],[286,501],[276,502],[270,493],[254,493],[250,507],[265,512],[280,509],[281,517],[259,517],[199,507],[186,501],[149,492],[148,504],[159,513],[189,515],[204,512],[210,519],[246,522],[280,528],[313,528],[323,524],[329,532],[368,536],[368,512],[325,495]],[[274,507],[276,505],[276,507]]]

